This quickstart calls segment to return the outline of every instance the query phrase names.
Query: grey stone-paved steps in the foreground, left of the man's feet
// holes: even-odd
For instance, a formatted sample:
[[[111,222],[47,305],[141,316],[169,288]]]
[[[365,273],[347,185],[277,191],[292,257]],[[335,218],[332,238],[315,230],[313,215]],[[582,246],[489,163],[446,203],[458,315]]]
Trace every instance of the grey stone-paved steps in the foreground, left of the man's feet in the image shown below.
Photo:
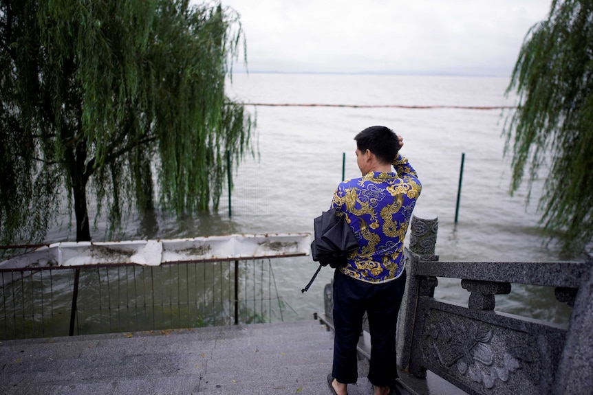
[[[0,342],[0,394],[329,394],[320,321]],[[349,394],[371,394],[365,359]]]

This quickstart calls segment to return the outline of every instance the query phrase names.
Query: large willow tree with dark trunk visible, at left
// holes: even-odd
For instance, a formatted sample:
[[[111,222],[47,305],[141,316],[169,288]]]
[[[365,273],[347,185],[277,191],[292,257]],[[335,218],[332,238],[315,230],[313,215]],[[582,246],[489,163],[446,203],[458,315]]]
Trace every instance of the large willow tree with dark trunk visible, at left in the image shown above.
[[[1,242],[43,240],[64,200],[90,240],[87,193],[111,230],[216,208],[250,149],[224,92],[244,43],[219,3],[0,0]]]

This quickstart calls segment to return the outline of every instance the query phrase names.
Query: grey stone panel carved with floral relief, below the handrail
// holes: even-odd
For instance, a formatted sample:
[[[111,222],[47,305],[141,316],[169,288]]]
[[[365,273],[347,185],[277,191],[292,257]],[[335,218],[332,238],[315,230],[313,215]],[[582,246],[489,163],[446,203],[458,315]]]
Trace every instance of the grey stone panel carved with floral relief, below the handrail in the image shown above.
[[[537,332],[433,309],[423,332],[424,367],[470,394],[527,395],[550,390],[553,345]]]

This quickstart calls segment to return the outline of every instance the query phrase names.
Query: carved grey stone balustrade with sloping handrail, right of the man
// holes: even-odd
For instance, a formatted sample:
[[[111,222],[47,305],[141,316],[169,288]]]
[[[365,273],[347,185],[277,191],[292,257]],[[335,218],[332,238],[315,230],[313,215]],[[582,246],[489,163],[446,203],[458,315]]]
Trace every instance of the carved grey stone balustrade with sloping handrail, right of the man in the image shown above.
[[[422,394],[427,387],[415,390],[405,376],[430,371],[467,394],[593,393],[593,260],[440,262],[437,230],[437,219],[413,216],[398,321],[400,385]],[[435,299],[438,278],[460,279],[468,304]],[[495,311],[495,295],[510,293],[511,284],[554,287],[572,307],[568,328]],[[331,318],[327,287],[324,296]]]

